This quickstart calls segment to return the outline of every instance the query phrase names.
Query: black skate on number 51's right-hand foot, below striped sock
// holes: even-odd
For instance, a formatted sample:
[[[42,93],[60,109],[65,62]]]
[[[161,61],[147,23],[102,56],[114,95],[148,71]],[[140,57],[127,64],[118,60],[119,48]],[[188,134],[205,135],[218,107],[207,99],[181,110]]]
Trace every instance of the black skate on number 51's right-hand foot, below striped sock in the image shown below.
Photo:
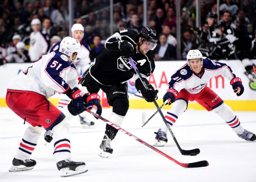
[[[61,177],[74,176],[88,171],[84,162],[74,162],[72,160],[57,162],[57,168]]]

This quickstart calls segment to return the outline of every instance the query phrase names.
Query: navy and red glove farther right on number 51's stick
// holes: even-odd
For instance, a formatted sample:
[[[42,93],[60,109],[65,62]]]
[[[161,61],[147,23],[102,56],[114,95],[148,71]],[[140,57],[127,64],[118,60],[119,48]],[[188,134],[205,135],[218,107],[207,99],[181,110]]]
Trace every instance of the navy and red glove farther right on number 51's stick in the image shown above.
[[[96,93],[92,93],[90,94],[87,99],[87,104],[88,104],[88,107],[87,109],[90,109],[91,112],[95,112],[93,111],[94,109],[96,110],[96,113],[98,115],[101,115],[102,113],[102,107],[100,105],[100,95],[96,94]],[[98,118],[97,118],[98,119]]]

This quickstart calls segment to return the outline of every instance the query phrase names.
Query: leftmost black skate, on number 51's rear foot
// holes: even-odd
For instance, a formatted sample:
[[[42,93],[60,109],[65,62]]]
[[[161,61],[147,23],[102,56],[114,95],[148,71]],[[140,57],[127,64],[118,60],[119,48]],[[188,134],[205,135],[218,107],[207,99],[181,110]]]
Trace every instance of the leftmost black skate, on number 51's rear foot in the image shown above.
[[[24,171],[33,169],[36,165],[36,161],[33,159],[16,159],[13,158],[12,160],[12,167],[9,169],[9,172],[16,172],[16,171]]]

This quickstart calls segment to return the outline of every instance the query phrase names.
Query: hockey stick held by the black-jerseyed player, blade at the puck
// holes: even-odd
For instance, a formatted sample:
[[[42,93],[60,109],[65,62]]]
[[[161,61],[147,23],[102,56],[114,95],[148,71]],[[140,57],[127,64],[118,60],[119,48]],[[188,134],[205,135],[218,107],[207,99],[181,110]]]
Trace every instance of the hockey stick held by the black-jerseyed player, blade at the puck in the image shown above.
[[[128,59],[129,59],[131,65],[132,65],[133,69],[134,69],[135,72],[137,73],[138,77],[140,78],[140,81],[143,83],[145,89],[148,90],[148,86],[146,85],[145,81],[142,80],[142,77],[141,77],[141,75],[140,75],[140,72],[139,72],[138,68],[136,67],[136,65],[134,64],[134,61],[132,60],[131,57],[129,57]],[[182,155],[191,155],[191,156],[195,156],[195,155],[199,154],[199,153],[200,153],[199,148],[195,148],[195,149],[192,149],[192,150],[183,150],[182,148],[180,148],[180,145],[179,145],[178,141],[176,140],[174,134],[172,133],[171,127],[170,127],[168,121],[166,121],[166,119],[165,119],[165,117],[164,117],[164,115],[163,115],[161,109],[159,108],[159,106],[158,106],[158,104],[156,103],[156,101],[153,101],[153,102],[154,102],[154,104],[156,105],[156,108],[157,108],[157,110],[159,111],[159,113],[160,113],[160,115],[161,115],[161,117],[162,117],[162,119],[163,119],[163,121],[164,121],[166,127],[168,128],[168,130],[169,130],[170,133],[172,134],[172,138],[173,138],[174,142],[176,143],[178,149],[180,150],[180,153],[181,153]]]

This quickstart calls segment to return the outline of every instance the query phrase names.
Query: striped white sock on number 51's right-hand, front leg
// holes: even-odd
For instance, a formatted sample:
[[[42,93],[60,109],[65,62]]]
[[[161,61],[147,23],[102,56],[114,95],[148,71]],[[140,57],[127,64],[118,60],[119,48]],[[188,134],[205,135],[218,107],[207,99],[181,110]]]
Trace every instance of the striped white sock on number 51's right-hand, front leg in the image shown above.
[[[70,140],[69,140],[69,127],[68,120],[65,118],[61,123],[56,125],[53,131],[53,140],[54,140],[54,158],[56,162],[61,160],[70,160]]]

